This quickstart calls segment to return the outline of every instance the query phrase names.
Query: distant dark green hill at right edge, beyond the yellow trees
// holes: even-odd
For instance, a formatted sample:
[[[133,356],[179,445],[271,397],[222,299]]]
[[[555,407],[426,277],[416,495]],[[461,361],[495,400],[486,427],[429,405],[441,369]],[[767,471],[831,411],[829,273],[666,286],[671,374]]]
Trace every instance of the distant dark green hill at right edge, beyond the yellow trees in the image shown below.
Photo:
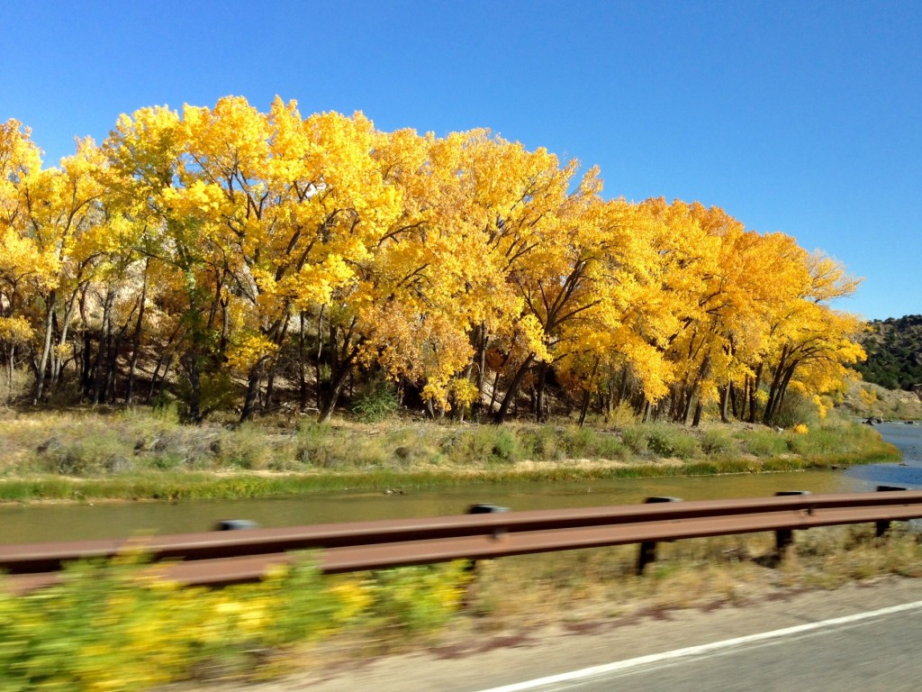
[[[922,385],[922,315],[875,319],[870,328],[862,339],[868,360],[855,368],[864,379],[888,389]]]

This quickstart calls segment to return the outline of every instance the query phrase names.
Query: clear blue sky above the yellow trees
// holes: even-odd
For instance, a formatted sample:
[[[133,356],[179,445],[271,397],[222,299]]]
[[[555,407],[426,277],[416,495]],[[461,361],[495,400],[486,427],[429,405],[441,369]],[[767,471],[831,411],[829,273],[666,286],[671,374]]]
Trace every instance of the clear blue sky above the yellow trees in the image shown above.
[[[0,120],[46,165],[120,113],[280,95],[379,129],[490,127],[607,197],[715,205],[922,313],[922,0],[0,2]]]

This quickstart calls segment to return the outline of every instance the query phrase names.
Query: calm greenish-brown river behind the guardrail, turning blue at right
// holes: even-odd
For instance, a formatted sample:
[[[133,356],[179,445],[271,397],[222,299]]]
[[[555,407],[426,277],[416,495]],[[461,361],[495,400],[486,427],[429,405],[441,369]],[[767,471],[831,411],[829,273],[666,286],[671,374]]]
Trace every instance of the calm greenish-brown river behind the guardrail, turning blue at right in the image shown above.
[[[0,507],[0,543],[118,538],[145,533],[208,531],[222,519],[260,526],[398,519],[463,514],[473,504],[510,509],[596,507],[640,503],[651,495],[686,500],[759,497],[781,490],[860,492],[879,485],[922,487],[922,425],[881,424],[884,439],[899,447],[899,463],[845,471],[799,471],[694,478],[642,478],[573,483],[471,484],[398,493],[337,493],[301,497]]]

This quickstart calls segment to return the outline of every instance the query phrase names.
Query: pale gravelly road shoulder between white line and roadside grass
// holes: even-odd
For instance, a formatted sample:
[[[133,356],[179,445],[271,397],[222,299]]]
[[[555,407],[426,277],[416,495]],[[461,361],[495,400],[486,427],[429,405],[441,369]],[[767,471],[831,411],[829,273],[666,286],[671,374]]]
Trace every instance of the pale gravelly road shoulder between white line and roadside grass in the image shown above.
[[[216,685],[210,689],[471,692],[920,599],[922,579],[895,577],[852,583],[835,591],[779,591],[743,603],[467,637],[412,653],[312,666],[311,671],[272,683]],[[171,687],[173,690],[184,692],[182,686]]]

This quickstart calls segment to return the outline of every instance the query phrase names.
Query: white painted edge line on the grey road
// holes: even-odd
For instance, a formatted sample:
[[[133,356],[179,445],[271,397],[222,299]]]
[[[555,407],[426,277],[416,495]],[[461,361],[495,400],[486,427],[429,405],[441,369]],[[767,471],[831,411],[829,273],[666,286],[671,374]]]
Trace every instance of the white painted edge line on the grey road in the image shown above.
[[[746,637],[724,639],[723,641],[715,641],[710,644],[700,644],[694,647],[686,647],[685,649],[675,649],[671,651],[664,651],[663,653],[650,654],[648,656],[638,656],[634,659],[606,663],[604,665],[595,665],[591,668],[583,668],[582,670],[572,671],[570,673],[561,673],[557,675],[549,675],[547,677],[539,677],[535,680],[526,680],[525,682],[514,683],[513,685],[504,685],[502,687],[491,687],[490,689],[481,690],[481,692],[524,692],[525,690],[536,689],[546,685],[554,685],[555,683],[573,682],[573,680],[581,680],[594,677],[595,675],[615,673],[617,671],[627,670],[629,668],[634,668],[639,665],[646,665],[648,663],[671,661],[673,659],[682,658],[683,656],[695,656],[701,653],[729,649],[741,644],[751,644],[753,642],[764,641],[766,639],[788,637],[790,635],[810,632],[810,630],[822,629],[824,627],[848,625],[850,623],[860,622],[861,620],[869,620],[872,617],[881,617],[882,615],[902,613],[903,611],[914,610],[916,608],[922,608],[922,601],[916,601],[914,603],[903,603],[901,605],[892,605],[889,608],[881,608],[880,610],[869,611],[867,613],[857,613],[854,615],[833,617],[830,620],[821,620],[820,622],[808,623],[807,625],[797,625],[793,627],[785,627],[784,629],[774,629],[771,632],[761,632],[759,634],[748,635]]]

